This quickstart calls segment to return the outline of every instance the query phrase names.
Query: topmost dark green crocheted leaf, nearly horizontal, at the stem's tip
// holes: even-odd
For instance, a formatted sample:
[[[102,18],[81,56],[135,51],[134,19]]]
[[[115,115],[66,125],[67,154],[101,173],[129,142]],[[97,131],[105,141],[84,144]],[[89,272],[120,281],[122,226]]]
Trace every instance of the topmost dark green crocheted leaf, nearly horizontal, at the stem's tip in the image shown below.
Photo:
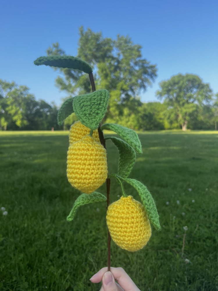
[[[80,70],[87,74],[92,72],[89,64],[74,56],[40,56],[34,61],[34,64]]]

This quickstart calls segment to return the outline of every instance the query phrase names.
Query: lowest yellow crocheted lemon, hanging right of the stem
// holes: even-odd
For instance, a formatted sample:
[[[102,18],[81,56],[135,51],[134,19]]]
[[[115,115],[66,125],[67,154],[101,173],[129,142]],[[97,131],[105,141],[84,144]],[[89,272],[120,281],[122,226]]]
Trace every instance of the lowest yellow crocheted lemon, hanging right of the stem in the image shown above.
[[[151,237],[151,226],[146,210],[132,196],[122,196],[110,204],[106,219],[113,241],[122,249],[138,251]]]

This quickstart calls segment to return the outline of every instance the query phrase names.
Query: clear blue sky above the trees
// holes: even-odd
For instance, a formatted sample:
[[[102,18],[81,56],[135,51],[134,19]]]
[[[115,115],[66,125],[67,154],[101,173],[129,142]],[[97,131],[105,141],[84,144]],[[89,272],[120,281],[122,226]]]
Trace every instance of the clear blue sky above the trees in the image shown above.
[[[92,3],[92,6],[90,6]],[[218,1],[0,0],[0,79],[27,85],[37,99],[60,105],[57,72],[33,61],[53,43],[76,56],[78,27],[104,37],[128,35],[158,77],[143,102],[157,101],[158,83],[178,73],[199,75],[218,92]]]

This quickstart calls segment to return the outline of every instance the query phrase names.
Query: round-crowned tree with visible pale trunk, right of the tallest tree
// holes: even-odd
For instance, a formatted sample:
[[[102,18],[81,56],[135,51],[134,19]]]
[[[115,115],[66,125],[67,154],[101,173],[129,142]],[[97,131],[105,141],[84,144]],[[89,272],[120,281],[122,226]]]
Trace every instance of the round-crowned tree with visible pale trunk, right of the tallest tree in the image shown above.
[[[164,103],[173,114],[171,117],[176,119],[182,126],[182,130],[187,129],[192,114],[197,107],[209,104],[212,91],[209,84],[194,74],[178,74],[167,81],[160,83],[161,90],[157,92],[158,98],[164,98]]]

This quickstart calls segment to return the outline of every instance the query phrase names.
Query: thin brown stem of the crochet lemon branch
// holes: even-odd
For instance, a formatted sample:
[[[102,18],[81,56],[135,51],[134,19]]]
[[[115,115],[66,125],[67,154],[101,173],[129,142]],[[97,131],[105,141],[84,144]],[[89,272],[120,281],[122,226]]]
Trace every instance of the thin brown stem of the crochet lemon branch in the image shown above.
[[[89,79],[92,85],[92,92],[96,91],[95,89],[95,82],[94,82],[94,77],[92,72],[89,73]],[[99,140],[101,142],[101,144],[103,145],[103,147],[106,149],[106,142],[105,142],[105,138],[104,138],[104,134],[101,130],[101,125],[99,124],[98,127],[98,133],[99,133]],[[107,209],[108,206],[110,205],[110,178],[106,179],[106,190],[107,190]],[[110,232],[108,230],[108,271],[110,271]]]

